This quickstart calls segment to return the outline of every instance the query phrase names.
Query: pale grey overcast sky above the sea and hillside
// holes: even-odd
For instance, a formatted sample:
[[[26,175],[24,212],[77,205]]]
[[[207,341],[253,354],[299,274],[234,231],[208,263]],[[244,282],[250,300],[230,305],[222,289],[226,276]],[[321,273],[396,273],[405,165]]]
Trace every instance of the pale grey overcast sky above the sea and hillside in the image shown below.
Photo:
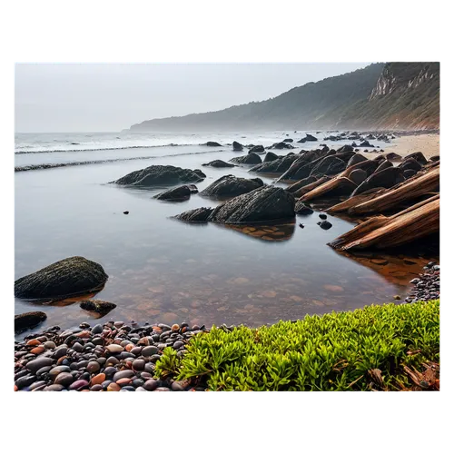
[[[368,64],[370,59],[43,63],[8,58],[8,131],[118,132],[153,118],[267,100]]]

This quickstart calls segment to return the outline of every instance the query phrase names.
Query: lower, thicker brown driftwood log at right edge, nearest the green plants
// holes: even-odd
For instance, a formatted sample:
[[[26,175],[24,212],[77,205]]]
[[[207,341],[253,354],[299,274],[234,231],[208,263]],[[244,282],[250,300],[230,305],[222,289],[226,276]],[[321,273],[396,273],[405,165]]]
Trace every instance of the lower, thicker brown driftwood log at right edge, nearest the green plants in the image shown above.
[[[343,251],[370,247],[384,249],[412,242],[440,229],[440,197],[433,196],[393,216],[370,218],[329,245]]]

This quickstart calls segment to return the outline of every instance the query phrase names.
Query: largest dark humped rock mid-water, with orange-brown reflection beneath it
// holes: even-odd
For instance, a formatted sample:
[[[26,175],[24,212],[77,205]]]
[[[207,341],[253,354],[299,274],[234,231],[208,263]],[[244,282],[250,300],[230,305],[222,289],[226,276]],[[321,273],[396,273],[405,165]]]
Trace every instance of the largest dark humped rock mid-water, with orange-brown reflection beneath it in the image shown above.
[[[201,222],[202,219],[226,224],[275,222],[293,218],[294,205],[295,198],[290,192],[274,186],[262,186],[214,209],[199,208],[183,212],[175,218],[186,222]]]

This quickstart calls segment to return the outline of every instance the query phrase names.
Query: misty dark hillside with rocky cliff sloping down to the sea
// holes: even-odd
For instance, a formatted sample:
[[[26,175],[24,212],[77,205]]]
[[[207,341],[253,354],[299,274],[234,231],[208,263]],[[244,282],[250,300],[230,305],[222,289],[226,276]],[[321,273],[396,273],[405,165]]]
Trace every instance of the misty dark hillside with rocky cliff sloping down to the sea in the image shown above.
[[[148,120],[131,131],[433,129],[441,123],[438,61],[374,63],[258,103]]]

